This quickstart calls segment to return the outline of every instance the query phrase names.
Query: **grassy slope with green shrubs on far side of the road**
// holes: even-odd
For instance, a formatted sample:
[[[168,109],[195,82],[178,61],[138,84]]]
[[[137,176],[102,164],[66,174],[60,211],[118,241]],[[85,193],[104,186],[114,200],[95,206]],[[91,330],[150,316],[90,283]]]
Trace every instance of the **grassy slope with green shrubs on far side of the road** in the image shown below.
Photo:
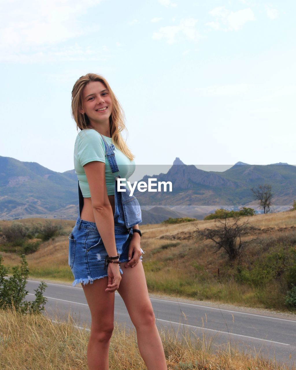
[[[237,225],[245,224],[243,244],[232,260],[224,248],[217,250],[213,240],[198,233],[214,229],[215,219],[141,226],[149,292],[295,312],[295,218],[296,211],[241,216]],[[235,218],[228,221],[235,225]],[[3,223],[10,224],[0,222],[2,229]],[[63,221],[62,225],[68,234],[74,221]],[[235,246],[239,243],[238,238]],[[5,266],[20,263],[15,252],[0,254]],[[42,241],[36,252],[27,255],[27,261],[31,277],[73,282],[66,235]]]

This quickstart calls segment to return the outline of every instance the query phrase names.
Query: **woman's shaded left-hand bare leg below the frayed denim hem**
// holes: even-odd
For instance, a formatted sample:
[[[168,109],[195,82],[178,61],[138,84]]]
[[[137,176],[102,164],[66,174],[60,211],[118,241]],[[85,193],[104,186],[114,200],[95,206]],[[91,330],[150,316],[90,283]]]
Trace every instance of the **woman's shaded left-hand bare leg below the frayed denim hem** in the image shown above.
[[[107,277],[81,284],[91,312],[91,331],[87,346],[89,370],[108,370],[109,344],[114,327],[114,293],[105,292]]]

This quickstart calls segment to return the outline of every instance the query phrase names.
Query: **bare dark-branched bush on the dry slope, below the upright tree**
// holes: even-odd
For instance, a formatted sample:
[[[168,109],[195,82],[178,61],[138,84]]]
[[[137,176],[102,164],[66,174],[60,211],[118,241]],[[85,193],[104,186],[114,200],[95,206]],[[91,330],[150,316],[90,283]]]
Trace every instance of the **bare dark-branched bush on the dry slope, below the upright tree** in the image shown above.
[[[197,226],[198,235],[204,240],[212,240],[216,244],[215,252],[221,248],[228,254],[230,260],[235,260],[239,257],[243,247],[255,240],[242,241],[242,237],[250,233],[252,227],[248,226],[248,221],[239,223],[240,216],[232,219],[225,218],[216,219],[215,227],[200,230]],[[256,238],[257,239],[257,238]]]

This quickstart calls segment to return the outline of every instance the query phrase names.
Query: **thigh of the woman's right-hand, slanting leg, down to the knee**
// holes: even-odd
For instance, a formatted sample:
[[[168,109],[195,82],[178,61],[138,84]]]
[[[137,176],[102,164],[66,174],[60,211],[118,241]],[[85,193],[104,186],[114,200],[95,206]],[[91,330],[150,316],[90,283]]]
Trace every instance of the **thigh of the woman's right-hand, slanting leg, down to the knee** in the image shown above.
[[[148,294],[142,262],[137,263],[133,268],[125,268],[124,265],[125,263],[121,263],[123,275],[118,293],[124,300],[133,324],[136,327],[144,323],[154,324],[155,316]]]

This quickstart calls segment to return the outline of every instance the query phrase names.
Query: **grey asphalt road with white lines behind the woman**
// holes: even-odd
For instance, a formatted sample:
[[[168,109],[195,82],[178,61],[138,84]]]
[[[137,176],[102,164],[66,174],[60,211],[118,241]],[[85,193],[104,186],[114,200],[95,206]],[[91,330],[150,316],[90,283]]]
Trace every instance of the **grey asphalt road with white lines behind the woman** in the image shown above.
[[[28,300],[34,300],[34,289],[40,282],[28,280]],[[72,287],[46,283],[46,312],[52,319],[63,321],[68,313],[78,327],[90,327],[90,311],[81,286]],[[181,300],[182,301],[182,300]],[[151,297],[159,329],[187,329],[197,337],[205,334],[219,346],[231,342],[240,350],[260,353],[263,357],[292,365],[296,364],[296,319],[256,314],[252,310],[220,309],[215,305],[204,306],[195,302],[181,302],[171,298]],[[58,314],[58,319],[57,319]],[[115,320],[133,327],[120,295],[115,293]],[[182,332],[179,330],[179,333]]]

